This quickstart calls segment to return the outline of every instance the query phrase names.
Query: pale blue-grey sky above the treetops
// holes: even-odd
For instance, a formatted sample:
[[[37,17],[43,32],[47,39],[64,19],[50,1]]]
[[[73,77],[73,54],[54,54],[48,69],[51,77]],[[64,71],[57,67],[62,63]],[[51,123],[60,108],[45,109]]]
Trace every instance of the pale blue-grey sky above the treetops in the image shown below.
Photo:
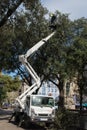
[[[69,14],[71,20],[87,18],[87,0],[41,0],[41,2],[50,12],[58,10]]]

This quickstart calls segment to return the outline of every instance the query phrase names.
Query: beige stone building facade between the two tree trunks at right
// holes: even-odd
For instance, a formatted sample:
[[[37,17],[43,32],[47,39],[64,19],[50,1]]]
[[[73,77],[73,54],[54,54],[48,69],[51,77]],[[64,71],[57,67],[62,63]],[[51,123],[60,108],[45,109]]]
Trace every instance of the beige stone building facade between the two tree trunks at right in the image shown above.
[[[64,85],[64,104],[66,108],[75,109],[77,99],[79,97],[78,85],[76,79],[66,81]]]

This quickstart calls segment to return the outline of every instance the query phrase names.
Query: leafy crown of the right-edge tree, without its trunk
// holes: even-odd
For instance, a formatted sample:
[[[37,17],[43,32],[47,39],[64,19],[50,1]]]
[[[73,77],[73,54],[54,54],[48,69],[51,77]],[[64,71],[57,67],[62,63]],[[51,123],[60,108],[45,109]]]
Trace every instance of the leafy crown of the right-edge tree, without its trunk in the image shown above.
[[[74,22],[73,43],[67,47],[66,63],[69,71],[80,74],[83,66],[87,63],[87,20],[79,19]],[[68,71],[68,72],[69,72]],[[72,75],[73,76],[73,75]]]

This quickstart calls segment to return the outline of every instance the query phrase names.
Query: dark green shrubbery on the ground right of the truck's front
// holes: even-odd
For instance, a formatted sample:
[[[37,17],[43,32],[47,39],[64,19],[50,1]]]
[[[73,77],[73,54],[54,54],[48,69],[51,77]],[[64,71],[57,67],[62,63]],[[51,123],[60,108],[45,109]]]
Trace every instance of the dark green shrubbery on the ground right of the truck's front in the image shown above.
[[[61,108],[57,111],[55,117],[55,130],[70,130],[79,123],[79,115],[73,111]]]

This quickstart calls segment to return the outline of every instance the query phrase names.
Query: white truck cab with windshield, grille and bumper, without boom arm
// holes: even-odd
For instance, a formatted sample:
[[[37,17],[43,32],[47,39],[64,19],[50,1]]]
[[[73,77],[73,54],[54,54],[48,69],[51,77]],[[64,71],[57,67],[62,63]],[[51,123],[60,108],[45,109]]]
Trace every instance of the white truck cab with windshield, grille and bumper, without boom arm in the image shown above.
[[[31,122],[53,122],[55,102],[52,96],[30,95],[26,98],[25,112]]]

